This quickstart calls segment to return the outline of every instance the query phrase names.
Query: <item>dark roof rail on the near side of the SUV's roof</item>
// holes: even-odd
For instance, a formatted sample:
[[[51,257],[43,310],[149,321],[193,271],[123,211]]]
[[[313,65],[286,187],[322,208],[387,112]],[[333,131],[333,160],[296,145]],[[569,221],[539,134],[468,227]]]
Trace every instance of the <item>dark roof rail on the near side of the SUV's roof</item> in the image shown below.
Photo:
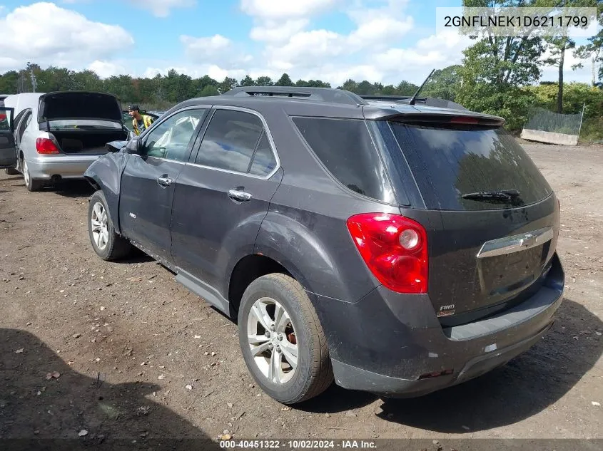
[[[366,105],[365,100],[348,90],[334,88],[302,88],[298,86],[238,86],[222,95],[307,98],[319,102],[344,105]]]

